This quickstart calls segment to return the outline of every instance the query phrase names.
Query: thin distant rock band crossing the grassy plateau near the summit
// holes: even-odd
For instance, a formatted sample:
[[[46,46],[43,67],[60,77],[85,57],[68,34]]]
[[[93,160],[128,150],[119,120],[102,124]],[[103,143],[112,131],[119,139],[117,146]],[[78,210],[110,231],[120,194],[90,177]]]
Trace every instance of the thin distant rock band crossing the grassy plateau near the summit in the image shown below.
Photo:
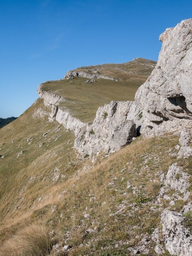
[[[117,82],[119,81],[119,79],[116,79],[114,77],[109,77],[108,75],[104,75],[104,74],[98,74],[98,73],[92,74],[84,71],[73,71],[73,70],[67,71],[63,79],[71,79],[73,77],[85,77],[89,79],[103,78],[103,79],[109,79]]]

